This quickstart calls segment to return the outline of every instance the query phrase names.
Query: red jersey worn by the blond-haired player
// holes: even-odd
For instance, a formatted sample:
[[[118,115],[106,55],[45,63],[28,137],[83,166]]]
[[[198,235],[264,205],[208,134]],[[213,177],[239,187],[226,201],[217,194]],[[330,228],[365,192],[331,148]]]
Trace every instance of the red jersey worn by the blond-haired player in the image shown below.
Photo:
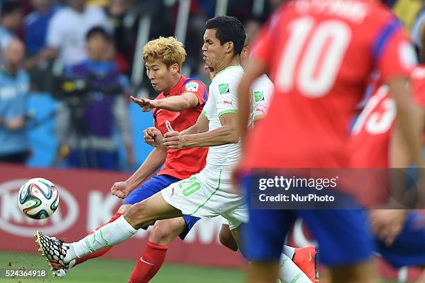
[[[181,112],[158,108],[153,110],[155,127],[163,135],[165,132],[172,130],[181,132],[197,123],[199,114],[201,114],[203,105],[208,98],[207,87],[200,80],[181,76],[178,84],[170,90],[167,96],[165,96],[164,92],[161,92],[156,96],[156,99],[180,95],[185,92],[196,94],[199,100],[197,107]],[[207,153],[208,148],[167,149],[167,159],[163,168],[158,172],[158,175],[171,175],[179,179],[189,178],[203,169],[206,164]]]

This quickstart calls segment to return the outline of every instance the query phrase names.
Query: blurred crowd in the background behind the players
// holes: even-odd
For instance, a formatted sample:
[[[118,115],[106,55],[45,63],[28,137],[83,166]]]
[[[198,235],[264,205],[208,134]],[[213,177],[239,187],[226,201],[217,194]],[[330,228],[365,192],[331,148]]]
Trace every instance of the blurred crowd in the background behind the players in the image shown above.
[[[176,36],[188,53],[183,74],[209,85],[201,60],[206,20],[225,11],[238,17],[255,39],[282,2],[0,0],[0,162],[134,169],[149,148],[142,150],[146,154],[135,148],[133,136],[142,140],[144,129],[131,127],[139,117],[132,114],[128,96],[156,96],[143,79],[142,44],[160,35]],[[419,47],[424,1],[384,2]],[[40,118],[47,108],[51,111]],[[53,126],[41,139],[56,142],[40,156],[52,157],[28,162],[39,151],[29,134],[48,123]]]

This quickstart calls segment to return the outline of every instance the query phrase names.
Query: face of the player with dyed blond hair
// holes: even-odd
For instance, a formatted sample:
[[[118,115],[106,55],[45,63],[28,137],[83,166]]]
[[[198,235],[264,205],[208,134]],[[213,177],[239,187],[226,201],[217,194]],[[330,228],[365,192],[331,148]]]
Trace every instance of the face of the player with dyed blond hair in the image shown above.
[[[172,67],[168,68],[167,65],[159,59],[147,62],[145,66],[146,74],[156,92],[163,92],[174,87],[174,85],[172,85]]]

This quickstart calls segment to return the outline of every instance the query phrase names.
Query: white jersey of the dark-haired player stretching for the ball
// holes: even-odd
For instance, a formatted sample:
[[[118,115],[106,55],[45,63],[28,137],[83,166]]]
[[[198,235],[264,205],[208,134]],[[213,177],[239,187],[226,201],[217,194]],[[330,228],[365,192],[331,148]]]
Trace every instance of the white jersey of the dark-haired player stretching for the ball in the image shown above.
[[[219,71],[210,84],[208,100],[203,107],[207,117],[208,130],[222,126],[219,117],[226,113],[238,112],[238,85],[244,70],[240,66],[229,66]],[[241,144],[224,144],[210,146],[206,157],[206,166],[218,168],[233,167],[238,164],[241,156]]]

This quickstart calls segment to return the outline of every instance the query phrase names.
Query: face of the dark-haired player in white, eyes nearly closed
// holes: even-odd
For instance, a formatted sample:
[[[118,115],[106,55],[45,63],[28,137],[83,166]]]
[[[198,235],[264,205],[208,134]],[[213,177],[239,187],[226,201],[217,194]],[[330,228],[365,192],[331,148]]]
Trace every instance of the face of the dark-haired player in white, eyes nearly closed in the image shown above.
[[[203,34],[202,54],[203,60],[208,67],[217,67],[219,62],[224,60],[226,55],[225,44],[220,44],[220,41],[215,37],[216,31],[214,28],[206,29]]]

